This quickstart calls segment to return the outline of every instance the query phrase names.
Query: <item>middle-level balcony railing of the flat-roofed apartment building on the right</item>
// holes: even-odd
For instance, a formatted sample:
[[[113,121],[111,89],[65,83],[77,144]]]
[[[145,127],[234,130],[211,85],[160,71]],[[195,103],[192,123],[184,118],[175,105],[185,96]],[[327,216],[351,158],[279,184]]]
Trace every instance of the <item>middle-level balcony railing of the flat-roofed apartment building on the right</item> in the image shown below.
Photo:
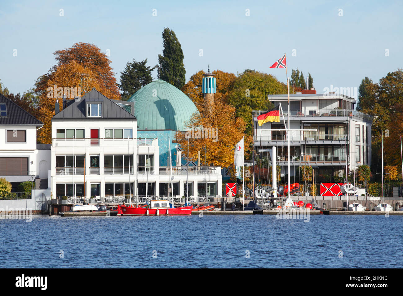
[[[307,132],[312,132],[307,130]],[[286,135],[254,135],[255,141],[262,142],[287,142]],[[320,143],[326,143],[326,141],[339,141],[344,143],[345,137],[347,135],[290,135],[290,142],[301,142],[301,141],[315,141]]]

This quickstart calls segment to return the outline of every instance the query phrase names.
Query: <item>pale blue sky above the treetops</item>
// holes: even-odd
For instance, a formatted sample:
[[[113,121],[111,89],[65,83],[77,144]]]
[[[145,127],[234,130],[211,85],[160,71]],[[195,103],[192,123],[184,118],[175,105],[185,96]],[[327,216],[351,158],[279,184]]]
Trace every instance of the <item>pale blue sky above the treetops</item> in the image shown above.
[[[403,68],[402,12],[401,1],[370,0],[1,0],[0,80],[23,93],[56,64],[56,50],[87,42],[110,53],[119,83],[127,62],[158,63],[169,27],[182,46],[186,81],[210,65],[235,74],[254,69],[286,83],[285,69],[269,68],[286,53],[288,76],[293,68],[304,77],[310,72],[318,93],[358,88],[366,76],[378,82]]]

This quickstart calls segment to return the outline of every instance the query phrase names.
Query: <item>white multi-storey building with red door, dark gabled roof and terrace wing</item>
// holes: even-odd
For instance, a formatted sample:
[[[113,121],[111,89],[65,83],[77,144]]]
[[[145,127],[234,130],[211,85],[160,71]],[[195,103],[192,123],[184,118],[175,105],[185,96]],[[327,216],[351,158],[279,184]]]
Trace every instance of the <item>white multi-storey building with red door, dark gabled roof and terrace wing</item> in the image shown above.
[[[173,167],[172,175],[169,167],[160,167],[158,138],[137,137],[134,103],[92,89],[81,99],[64,101],[60,112],[58,104],[52,118],[53,198],[162,198],[171,177],[176,201],[186,193],[186,178],[191,201],[205,196],[200,184],[207,183],[209,197],[222,192],[220,167],[189,167],[188,177],[186,167]]]

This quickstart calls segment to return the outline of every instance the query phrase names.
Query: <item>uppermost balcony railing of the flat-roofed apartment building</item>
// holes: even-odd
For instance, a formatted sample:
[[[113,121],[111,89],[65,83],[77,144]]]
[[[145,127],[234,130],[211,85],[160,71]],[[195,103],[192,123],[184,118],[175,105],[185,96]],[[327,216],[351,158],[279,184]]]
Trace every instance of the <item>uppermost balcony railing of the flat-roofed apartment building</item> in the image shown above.
[[[258,117],[261,114],[267,113],[268,110],[253,110],[252,111],[252,117]],[[288,110],[283,109],[284,112],[284,118],[287,119],[288,116]],[[355,117],[355,118],[360,118],[366,121],[372,122],[373,117],[364,114],[359,111],[355,111],[352,109],[320,109],[320,110],[290,110],[290,117],[345,117],[345,116],[350,116],[350,117]],[[280,112],[280,122],[283,120],[282,114]]]

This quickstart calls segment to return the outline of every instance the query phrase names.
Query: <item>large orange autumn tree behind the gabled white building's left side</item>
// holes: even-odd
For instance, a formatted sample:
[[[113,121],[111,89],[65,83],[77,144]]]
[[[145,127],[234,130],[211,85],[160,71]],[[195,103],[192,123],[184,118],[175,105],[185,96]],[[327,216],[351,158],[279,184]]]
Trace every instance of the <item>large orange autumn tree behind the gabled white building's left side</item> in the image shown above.
[[[54,55],[57,64],[50,68],[48,73],[38,77],[34,89],[34,95],[39,97],[40,105],[37,118],[44,123],[44,127],[37,133],[37,141],[40,143],[51,143],[50,121],[54,116],[54,103],[58,96],[49,95],[49,89],[54,85],[63,89],[77,87],[77,91],[80,89],[79,96],[96,87],[106,97],[120,99],[110,60],[97,46],[83,42],[75,43],[71,48],[56,50]]]

